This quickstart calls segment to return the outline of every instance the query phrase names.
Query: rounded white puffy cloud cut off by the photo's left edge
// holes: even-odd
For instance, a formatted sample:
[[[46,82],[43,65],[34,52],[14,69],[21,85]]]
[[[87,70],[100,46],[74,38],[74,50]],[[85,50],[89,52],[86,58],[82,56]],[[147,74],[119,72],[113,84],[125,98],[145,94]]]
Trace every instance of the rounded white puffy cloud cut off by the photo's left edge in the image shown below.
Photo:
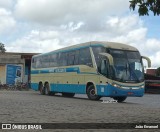
[[[16,21],[11,16],[11,12],[0,8],[0,34],[6,34],[14,30]]]

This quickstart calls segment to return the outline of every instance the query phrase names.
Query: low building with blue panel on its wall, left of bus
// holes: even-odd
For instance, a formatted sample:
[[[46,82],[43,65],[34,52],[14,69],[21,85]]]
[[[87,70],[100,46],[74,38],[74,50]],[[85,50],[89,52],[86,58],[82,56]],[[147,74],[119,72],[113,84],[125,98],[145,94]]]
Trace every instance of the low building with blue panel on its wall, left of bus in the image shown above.
[[[0,53],[0,83],[15,84],[30,81],[31,58],[37,53]]]

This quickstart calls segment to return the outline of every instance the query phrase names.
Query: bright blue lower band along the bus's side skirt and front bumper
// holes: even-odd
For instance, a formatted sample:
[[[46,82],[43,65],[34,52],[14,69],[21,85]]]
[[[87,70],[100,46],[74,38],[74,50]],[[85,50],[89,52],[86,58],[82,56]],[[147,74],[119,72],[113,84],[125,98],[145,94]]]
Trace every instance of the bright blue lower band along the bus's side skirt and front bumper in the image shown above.
[[[32,83],[32,89],[38,90],[38,84]],[[142,97],[144,95],[144,89],[119,89],[113,87],[112,85],[96,85],[97,95],[102,97],[116,97],[116,96],[136,96]],[[52,92],[68,92],[77,94],[86,94],[85,84],[50,84],[50,89]],[[132,93],[132,94],[128,94]]]

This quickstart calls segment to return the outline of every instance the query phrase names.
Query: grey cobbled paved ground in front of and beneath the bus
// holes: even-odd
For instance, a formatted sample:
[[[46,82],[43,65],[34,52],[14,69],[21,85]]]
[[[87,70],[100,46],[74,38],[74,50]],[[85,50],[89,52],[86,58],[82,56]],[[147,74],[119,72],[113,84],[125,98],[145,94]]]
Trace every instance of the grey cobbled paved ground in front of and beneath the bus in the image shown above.
[[[33,90],[3,90],[0,91],[0,121],[2,123],[160,123],[158,94],[146,94],[142,98],[130,97],[124,103],[107,103],[108,100],[111,98],[90,101],[86,95],[65,98],[61,95],[40,95]]]

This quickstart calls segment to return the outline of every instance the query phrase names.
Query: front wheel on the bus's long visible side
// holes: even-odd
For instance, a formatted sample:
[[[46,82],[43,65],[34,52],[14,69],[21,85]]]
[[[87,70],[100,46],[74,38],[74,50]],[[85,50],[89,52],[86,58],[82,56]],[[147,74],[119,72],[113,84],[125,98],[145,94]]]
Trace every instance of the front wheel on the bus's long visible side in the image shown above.
[[[99,100],[101,97],[95,94],[95,88],[94,85],[90,85],[87,88],[87,96],[90,100]]]

